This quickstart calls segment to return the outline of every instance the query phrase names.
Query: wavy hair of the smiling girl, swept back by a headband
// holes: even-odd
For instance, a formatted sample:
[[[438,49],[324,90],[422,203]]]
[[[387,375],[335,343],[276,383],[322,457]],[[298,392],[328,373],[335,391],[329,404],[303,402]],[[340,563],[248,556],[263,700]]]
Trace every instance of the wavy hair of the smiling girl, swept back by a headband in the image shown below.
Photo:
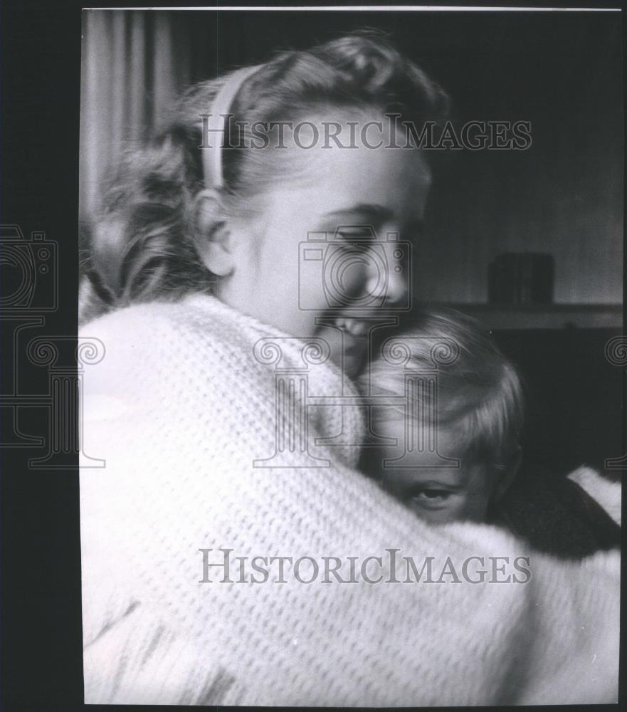
[[[196,251],[195,198],[204,186],[202,115],[225,75],[191,86],[172,121],[122,158],[90,226],[79,320],[137,302],[211,293],[215,277]],[[321,108],[394,112],[401,120],[441,120],[448,97],[386,36],[372,31],[307,51],[283,51],[246,79],[231,105],[232,124],[299,120]],[[260,126],[260,123],[256,124]],[[268,184],[268,152],[238,147],[226,129],[223,199],[230,209]]]

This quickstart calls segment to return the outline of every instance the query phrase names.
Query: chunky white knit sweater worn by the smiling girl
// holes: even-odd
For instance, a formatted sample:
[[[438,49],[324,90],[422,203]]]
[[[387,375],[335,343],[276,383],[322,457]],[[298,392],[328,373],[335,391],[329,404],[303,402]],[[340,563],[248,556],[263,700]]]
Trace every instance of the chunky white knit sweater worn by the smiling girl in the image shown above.
[[[564,563],[487,525],[430,528],[354,469],[350,447],[314,447],[327,467],[298,447],[288,466],[253,467],[275,450],[275,365],[253,347],[278,334],[214,298],[127,308],[83,335],[106,347],[83,389],[83,451],[106,460],[80,477],[85,702],[616,701],[618,553]],[[279,341],[280,366],[302,367],[302,344]],[[342,392],[334,366],[310,366],[310,396]],[[319,404],[307,422],[310,438],[337,435],[341,409]],[[359,414],[343,427],[358,441]],[[237,569],[232,584],[218,569],[199,582],[199,549],[216,562],[219,548],[319,561],[396,548],[457,571],[528,555],[532,577],[278,584],[273,567],[265,583],[236,582]]]

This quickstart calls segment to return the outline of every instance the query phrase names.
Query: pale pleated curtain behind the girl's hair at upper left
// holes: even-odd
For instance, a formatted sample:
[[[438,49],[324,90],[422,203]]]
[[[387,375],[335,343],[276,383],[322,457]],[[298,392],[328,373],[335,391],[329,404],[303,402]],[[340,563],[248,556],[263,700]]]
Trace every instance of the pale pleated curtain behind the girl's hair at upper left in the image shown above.
[[[84,11],[80,102],[80,219],[125,147],[142,140],[190,80],[190,53],[172,16]]]

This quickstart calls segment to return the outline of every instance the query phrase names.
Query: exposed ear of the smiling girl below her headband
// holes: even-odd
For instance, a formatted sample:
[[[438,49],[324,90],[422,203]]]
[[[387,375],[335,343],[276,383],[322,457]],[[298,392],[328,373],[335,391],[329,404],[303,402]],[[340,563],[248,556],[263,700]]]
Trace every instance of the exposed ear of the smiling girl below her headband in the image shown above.
[[[210,272],[225,277],[233,271],[231,234],[224,218],[220,194],[204,189],[196,196],[194,241]]]

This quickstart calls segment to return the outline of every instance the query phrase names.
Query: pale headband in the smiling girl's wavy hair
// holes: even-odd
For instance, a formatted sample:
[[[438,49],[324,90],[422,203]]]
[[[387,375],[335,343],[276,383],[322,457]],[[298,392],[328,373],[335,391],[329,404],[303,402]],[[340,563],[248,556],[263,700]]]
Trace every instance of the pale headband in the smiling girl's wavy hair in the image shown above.
[[[241,85],[263,65],[244,67],[228,76],[211,103],[211,116],[204,125],[209,146],[202,149],[202,162],[205,186],[207,188],[221,188],[224,184],[222,175],[222,146],[225,139],[226,119],[231,109],[233,99],[236,98]],[[211,144],[212,137],[216,137],[215,144]],[[221,137],[220,137],[221,136]]]

